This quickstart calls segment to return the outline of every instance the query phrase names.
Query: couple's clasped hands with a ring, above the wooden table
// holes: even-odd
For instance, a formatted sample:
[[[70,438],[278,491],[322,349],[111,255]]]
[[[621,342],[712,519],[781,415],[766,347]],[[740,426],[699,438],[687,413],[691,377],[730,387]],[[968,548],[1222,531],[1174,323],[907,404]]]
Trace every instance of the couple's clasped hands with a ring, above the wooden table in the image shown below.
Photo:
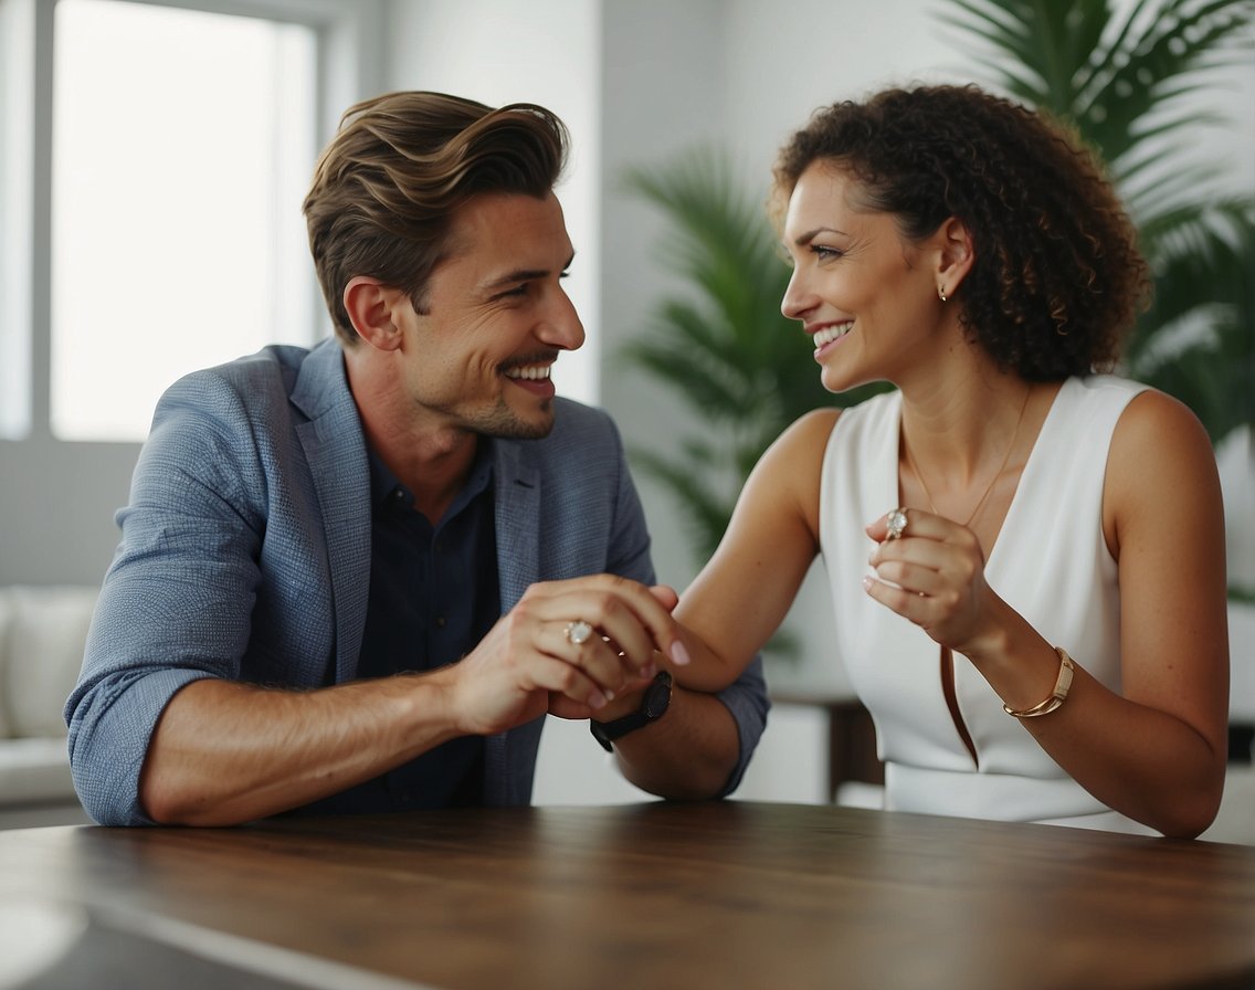
[[[688,663],[671,617],[678,601],[665,585],[615,575],[532,585],[454,665],[457,720],[467,734],[488,735],[546,711],[567,719],[621,714],[624,699],[658,671],[655,651]]]

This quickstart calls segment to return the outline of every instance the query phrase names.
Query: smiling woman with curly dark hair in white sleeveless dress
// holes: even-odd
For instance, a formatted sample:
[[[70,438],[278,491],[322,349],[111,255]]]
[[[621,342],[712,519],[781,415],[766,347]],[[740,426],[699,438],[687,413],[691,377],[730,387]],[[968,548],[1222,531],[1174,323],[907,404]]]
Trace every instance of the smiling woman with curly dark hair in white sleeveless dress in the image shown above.
[[[1107,374],[1147,289],[1064,132],[980,90],[884,92],[784,146],[782,309],[823,384],[675,616],[681,684],[729,683],[816,553],[886,807],[1192,837],[1224,787],[1227,631],[1212,449]]]

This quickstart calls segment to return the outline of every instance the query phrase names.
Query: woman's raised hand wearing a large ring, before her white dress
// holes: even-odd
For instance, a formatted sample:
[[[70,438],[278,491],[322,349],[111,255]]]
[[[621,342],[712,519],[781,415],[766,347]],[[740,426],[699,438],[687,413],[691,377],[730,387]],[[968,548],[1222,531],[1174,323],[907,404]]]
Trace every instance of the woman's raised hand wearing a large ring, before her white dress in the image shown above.
[[[998,601],[985,583],[980,541],[966,526],[931,512],[895,512],[906,513],[899,536],[890,527],[892,512],[866,527],[877,546],[868,558],[875,575],[863,577],[863,588],[943,646],[978,651],[993,631]]]

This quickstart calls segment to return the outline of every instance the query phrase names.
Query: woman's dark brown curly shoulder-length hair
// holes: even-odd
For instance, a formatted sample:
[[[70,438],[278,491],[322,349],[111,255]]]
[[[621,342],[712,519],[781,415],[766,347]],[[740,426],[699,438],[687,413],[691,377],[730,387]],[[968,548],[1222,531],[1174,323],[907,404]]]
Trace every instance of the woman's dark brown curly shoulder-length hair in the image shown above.
[[[973,85],[837,103],[781,149],[777,223],[817,161],[850,169],[861,206],[892,213],[909,240],[951,216],[966,226],[960,320],[999,366],[1054,381],[1116,364],[1148,269],[1102,164],[1068,129]]]

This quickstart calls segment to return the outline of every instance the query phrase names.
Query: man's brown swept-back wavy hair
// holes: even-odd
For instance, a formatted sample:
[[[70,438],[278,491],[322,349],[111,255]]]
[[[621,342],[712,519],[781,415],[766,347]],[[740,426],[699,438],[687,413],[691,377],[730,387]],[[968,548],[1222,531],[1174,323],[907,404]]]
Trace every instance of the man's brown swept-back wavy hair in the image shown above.
[[[350,107],[305,197],[310,251],[340,340],[360,338],[344,289],[366,275],[425,310],[458,207],[479,193],[543,197],[566,163],[569,136],[531,103],[492,109],[443,93],[389,93]]]

